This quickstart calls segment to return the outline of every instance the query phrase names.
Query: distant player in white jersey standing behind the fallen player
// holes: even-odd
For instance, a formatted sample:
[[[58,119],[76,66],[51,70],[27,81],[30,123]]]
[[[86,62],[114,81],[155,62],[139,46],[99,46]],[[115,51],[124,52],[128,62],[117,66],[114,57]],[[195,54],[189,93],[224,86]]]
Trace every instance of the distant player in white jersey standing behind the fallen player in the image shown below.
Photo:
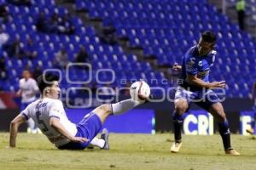
[[[27,105],[36,100],[36,95],[39,94],[39,88],[37,82],[31,77],[31,72],[24,70],[19,82],[18,96],[21,96],[20,111],[24,110]],[[37,133],[38,128],[35,126],[35,122],[32,119],[27,120],[27,133]]]

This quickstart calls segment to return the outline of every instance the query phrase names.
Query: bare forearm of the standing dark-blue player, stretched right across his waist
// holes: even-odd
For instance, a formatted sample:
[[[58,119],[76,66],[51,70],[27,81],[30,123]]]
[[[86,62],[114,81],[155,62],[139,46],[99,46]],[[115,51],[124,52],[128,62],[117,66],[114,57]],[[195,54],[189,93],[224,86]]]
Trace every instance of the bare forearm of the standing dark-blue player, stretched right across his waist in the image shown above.
[[[197,75],[189,75],[187,74],[187,81],[199,88],[224,88],[225,81],[222,82],[204,82]]]

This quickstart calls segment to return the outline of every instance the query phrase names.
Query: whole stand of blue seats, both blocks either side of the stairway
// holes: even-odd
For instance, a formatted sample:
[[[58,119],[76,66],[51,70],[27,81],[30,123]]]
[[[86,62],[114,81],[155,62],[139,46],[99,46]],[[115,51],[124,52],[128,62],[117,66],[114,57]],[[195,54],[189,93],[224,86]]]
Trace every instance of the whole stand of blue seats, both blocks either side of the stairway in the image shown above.
[[[20,45],[26,50],[26,39],[31,37],[33,48],[37,51],[36,59],[21,59],[9,56],[3,51],[3,58],[8,65],[9,79],[3,80],[3,90],[15,91],[18,88],[20,70],[27,65],[35,69],[41,65],[43,69],[53,68],[53,56],[61,48],[67,50],[70,61],[79,53],[83,44],[93,68],[93,82],[96,70],[99,68],[113,69],[117,79],[113,87],[125,87],[120,84],[121,79],[152,79],[151,86],[167,88],[172,85],[160,84],[165,75],[154,70],[148,62],[139,61],[135,54],[125,54],[119,44],[108,45],[102,43],[93,26],[86,26],[79,17],[71,17],[75,27],[73,34],[60,32],[38,31],[36,23],[40,13],[44,13],[46,20],[52,14],[59,18],[68,14],[67,8],[59,7],[54,0],[32,0],[31,6],[16,6],[1,0],[6,4],[13,20],[2,24],[3,32],[10,36],[9,43],[20,38]],[[90,1],[76,0],[78,10],[88,10],[90,17],[102,18],[103,26],[113,25],[118,37],[129,37],[131,46],[140,46],[144,54],[157,56],[159,65],[172,65],[181,62],[185,51],[196,43],[201,31],[213,30],[218,32],[218,58],[216,60],[212,80],[226,80],[228,82],[227,95],[229,97],[247,97],[250,85],[253,84],[253,74],[256,72],[256,43],[246,32],[240,31],[238,26],[206,0],[119,0],[119,1]],[[4,49],[3,49],[4,50]],[[62,71],[63,73],[64,70]],[[233,76],[230,77],[230,74]],[[73,81],[89,77],[88,71],[73,68]],[[102,80],[108,80],[108,73],[102,72]],[[65,78],[65,77],[64,77]],[[72,85],[67,80],[61,82],[64,88]],[[101,85],[98,85],[101,86]]]

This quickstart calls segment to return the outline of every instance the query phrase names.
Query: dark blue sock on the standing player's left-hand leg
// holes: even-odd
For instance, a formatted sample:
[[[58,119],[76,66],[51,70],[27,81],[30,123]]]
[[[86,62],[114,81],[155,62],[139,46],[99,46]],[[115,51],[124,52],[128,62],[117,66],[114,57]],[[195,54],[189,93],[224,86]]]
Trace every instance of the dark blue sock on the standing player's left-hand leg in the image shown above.
[[[183,116],[180,116],[177,114],[176,111],[173,111],[172,114],[172,119],[173,119],[173,130],[174,130],[174,139],[176,143],[181,143],[182,136],[181,136],[181,131],[182,131],[182,126],[183,126]]]

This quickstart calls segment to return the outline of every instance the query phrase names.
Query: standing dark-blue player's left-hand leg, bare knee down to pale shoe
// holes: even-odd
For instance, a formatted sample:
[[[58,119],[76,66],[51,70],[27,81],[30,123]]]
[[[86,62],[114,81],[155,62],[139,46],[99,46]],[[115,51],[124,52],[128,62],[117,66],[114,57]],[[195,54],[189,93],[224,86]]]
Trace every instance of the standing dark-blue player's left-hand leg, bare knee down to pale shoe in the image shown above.
[[[189,105],[186,99],[175,100],[175,110],[173,111],[173,130],[174,142],[171,146],[171,151],[177,153],[182,146],[182,126],[183,126],[183,113],[188,109]]]

